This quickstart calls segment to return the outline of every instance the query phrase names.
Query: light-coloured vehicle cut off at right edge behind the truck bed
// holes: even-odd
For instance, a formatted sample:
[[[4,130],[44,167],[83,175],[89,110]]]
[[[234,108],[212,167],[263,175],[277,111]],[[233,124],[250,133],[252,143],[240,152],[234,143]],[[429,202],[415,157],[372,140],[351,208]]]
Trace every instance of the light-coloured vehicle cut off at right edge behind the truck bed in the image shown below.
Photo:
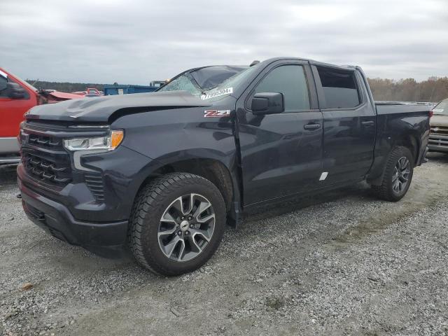
[[[430,127],[429,150],[448,153],[448,99],[442,100],[434,107]]]

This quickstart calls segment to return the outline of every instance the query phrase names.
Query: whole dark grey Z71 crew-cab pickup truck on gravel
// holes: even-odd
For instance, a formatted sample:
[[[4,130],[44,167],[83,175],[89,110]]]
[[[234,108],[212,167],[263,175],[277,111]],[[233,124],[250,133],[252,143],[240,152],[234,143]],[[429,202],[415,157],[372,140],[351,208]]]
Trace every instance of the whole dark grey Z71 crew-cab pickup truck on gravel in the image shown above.
[[[429,109],[375,104],[358,66],[267,59],[209,90],[178,76],[158,92],[34,107],[18,185],[51,235],[183,274],[244,211],[360,181],[400,200],[425,161]]]

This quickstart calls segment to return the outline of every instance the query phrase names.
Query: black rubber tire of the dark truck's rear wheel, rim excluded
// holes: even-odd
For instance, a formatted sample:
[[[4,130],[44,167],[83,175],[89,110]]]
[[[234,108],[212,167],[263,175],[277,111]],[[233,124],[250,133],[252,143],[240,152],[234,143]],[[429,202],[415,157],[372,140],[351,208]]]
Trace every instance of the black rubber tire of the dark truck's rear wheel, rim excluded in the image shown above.
[[[409,161],[409,174],[407,175],[407,183],[402,190],[394,190],[395,181],[395,166],[398,165],[398,161],[406,158]],[[397,202],[402,199],[409,190],[411,185],[412,175],[414,174],[414,156],[411,151],[406,147],[395,147],[391,151],[388,160],[386,162],[386,168],[384,169],[383,180],[381,185],[372,186],[372,192],[381,200],[386,200],[389,202]]]

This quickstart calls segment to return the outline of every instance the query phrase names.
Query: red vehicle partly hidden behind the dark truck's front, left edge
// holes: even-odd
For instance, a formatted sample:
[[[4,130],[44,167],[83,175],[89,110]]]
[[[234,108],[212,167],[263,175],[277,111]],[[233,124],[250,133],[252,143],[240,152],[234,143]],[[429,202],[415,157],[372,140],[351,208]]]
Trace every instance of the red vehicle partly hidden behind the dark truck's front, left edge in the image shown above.
[[[76,94],[37,90],[25,80],[0,68],[0,165],[20,161],[17,136],[23,115],[31,107],[83,98]]]

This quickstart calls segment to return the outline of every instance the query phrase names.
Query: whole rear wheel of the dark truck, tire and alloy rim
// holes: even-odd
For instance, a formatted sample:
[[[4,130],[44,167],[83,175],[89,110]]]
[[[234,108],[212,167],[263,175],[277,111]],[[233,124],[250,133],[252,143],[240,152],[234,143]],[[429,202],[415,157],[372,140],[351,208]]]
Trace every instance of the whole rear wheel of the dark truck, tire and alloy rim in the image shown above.
[[[408,148],[395,147],[386,162],[380,186],[372,186],[372,191],[382,200],[397,202],[409,190],[414,173],[414,158]]]

